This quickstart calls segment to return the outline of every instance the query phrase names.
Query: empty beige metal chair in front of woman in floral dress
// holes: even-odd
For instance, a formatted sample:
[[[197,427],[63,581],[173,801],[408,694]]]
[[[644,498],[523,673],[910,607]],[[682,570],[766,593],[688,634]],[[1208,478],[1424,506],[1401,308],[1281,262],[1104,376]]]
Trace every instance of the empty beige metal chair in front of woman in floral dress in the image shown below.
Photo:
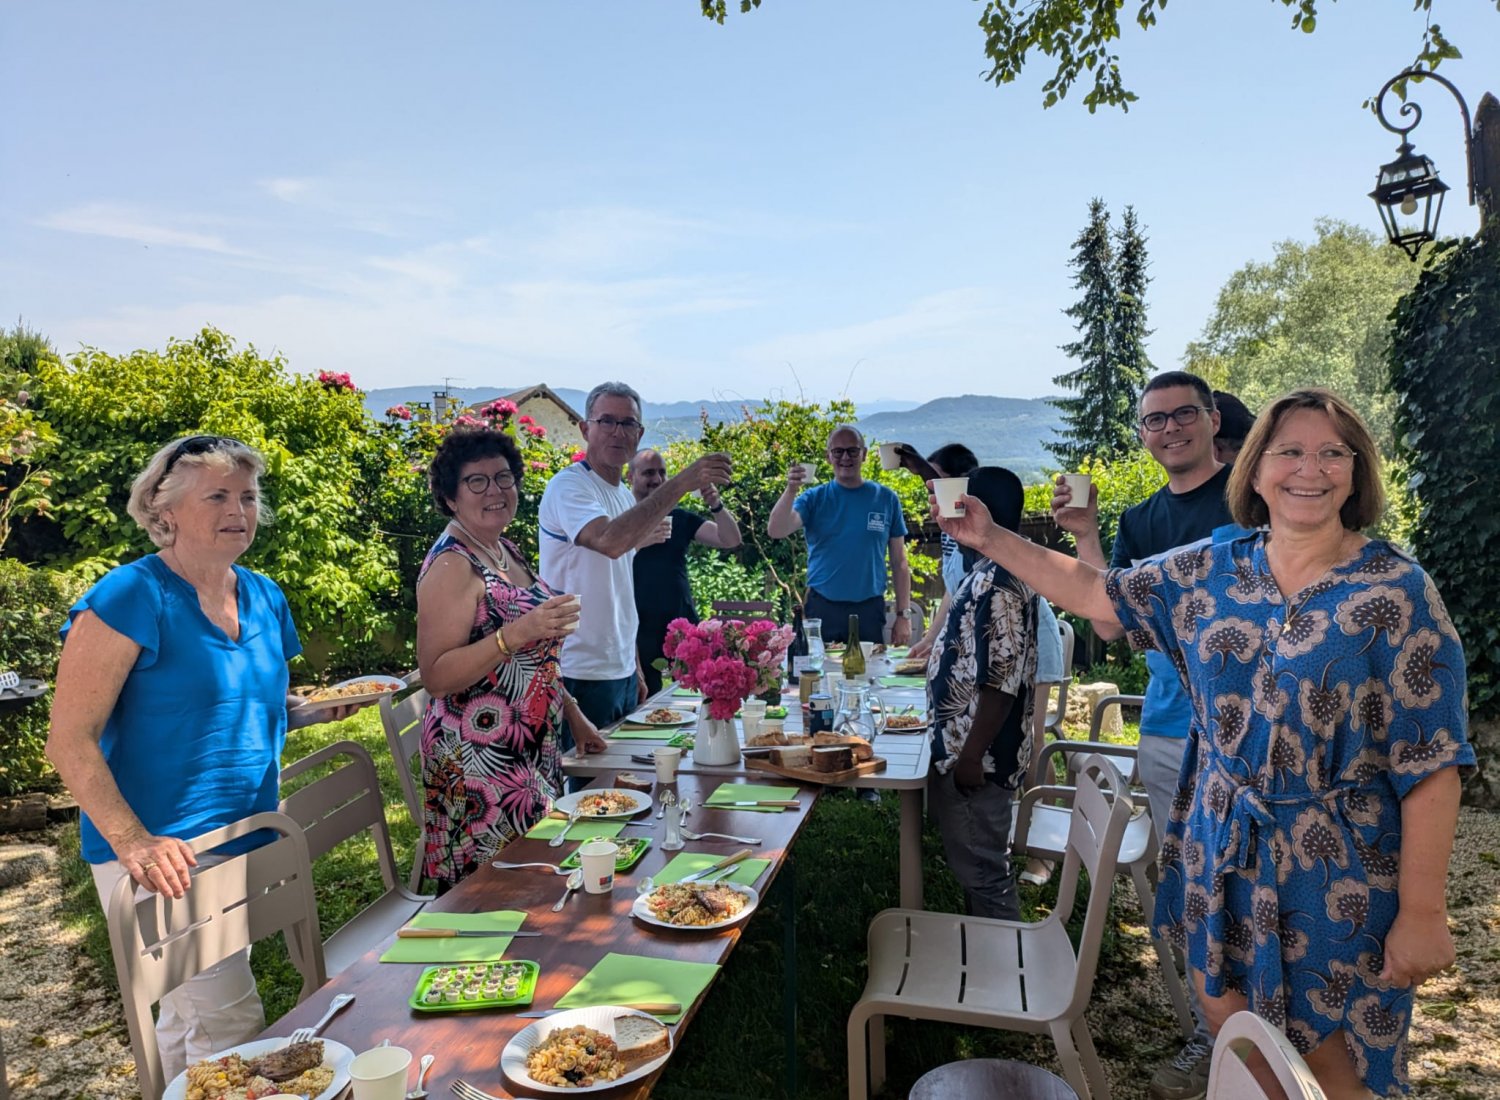
[[[1104,1067],[1083,1019],[1110,906],[1108,869],[1131,815],[1119,771],[1102,756],[1080,762],[1058,906],[1041,921],[885,909],[870,923],[870,975],[849,1013],[849,1097],[885,1079],[885,1016],[1050,1034],[1068,1083],[1108,1100]],[[1089,875],[1078,948],[1066,920]],[[868,1055],[868,1065],[866,1056]]]

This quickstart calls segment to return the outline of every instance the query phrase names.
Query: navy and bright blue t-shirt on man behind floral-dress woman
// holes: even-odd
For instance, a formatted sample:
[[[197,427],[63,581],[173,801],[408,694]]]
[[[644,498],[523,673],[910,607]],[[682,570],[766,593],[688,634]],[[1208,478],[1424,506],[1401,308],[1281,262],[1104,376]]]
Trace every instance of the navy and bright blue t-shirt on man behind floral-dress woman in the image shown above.
[[[1228,515],[1224,498],[1228,474],[1230,467],[1224,467],[1186,492],[1173,492],[1164,485],[1136,507],[1126,509],[1114,533],[1110,567],[1124,569],[1200,539],[1227,542],[1246,534]],[[1192,725],[1192,704],[1182,677],[1160,650],[1146,651],[1146,668],[1150,671],[1150,681],[1140,711],[1140,732],[1185,738]]]

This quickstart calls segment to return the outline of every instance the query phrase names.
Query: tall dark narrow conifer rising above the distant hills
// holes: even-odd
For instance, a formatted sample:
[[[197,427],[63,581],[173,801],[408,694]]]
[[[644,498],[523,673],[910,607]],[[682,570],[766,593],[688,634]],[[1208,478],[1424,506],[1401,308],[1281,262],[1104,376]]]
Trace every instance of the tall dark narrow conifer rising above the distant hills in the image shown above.
[[[1146,335],[1146,248],[1136,228],[1134,212],[1128,228],[1128,269],[1116,260],[1110,213],[1101,198],[1089,203],[1089,224],[1072,242],[1072,285],[1083,291],[1083,297],[1064,311],[1074,320],[1078,339],[1065,344],[1062,351],[1078,366],[1053,378],[1074,396],[1054,402],[1066,425],[1060,440],[1047,444],[1068,470],[1078,468],[1090,455],[1113,458],[1136,446],[1136,401],[1144,383],[1140,374],[1144,348],[1140,341]],[[1119,279],[1126,272],[1132,287],[1131,317],[1122,318]],[[1122,353],[1128,359],[1122,360]]]

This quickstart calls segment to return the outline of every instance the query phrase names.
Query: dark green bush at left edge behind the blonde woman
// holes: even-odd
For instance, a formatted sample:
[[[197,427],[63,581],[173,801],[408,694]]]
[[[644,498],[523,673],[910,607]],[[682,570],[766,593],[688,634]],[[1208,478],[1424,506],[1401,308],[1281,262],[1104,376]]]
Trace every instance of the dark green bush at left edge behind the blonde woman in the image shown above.
[[[57,630],[86,588],[81,578],[30,569],[0,558],[0,669],[51,680],[62,642]],[[0,795],[32,791],[56,780],[46,762],[51,696],[0,714]]]

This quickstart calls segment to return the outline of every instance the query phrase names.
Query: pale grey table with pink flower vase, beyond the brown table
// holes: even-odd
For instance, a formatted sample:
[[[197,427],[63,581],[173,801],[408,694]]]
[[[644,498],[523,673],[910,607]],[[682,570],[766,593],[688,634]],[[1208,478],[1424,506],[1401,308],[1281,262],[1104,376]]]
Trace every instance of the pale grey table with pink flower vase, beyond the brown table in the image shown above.
[[[918,713],[924,711],[927,707],[927,692],[924,687],[882,687],[879,683],[874,684],[874,690],[879,693],[880,699],[890,705],[892,710],[900,710],[902,707],[912,705]],[[837,702],[837,696],[836,696]],[[801,732],[802,729],[802,711],[798,701],[796,692],[789,690],[782,693],[782,704],[786,707],[784,726],[788,732]],[[696,705],[692,698],[680,698],[674,695],[670,686],[663,687],[651,699],[645,702],[644,708],[651,707],[692,707]],[[692,729],[692,728],[688,728]],[[740,737],[740,743],[744,744],[744,726],[740,719],[735,719],[735,731]],[[606,737],[608,737],[608,731]],[[568,774],[574,776],[614,776],[616,771],[634,771],[636,774],[648,774],[651,765],[644,759],[636,759],[638,756],[650,756],[651,750],[657,744],[664,744],[675,729],[663,731],[662,740],[612,740],[609,741],[609,749],[602,753],[592,753],[588,756],[567,756],[562,761],[562,768]],[[922,908],[922,795],[927,791],[927,773],[932,770],[932,741],[927,731],[918,734],[880,734],[874,738],[874,753],[884,756],[886,761],[885,771],[876,771],[868,776],[860,776],[848,783],[840,783],[840,786],[854,786],[861,789],[874,791],[897,791],[902,800],[902,828],[900,828],[900,899],[903,909],[921,909]],[[681,771],[692,776],[704,777],[718,777],[718,779],[748,779],[756,783],[786,783],[792,780],[782,779],[778,776],[770,774],[766,771],[759,771],[756,768],[747,767],[741,758],[735,764],[698,764],[690,752],[682,753]],[[712,813],[711,819],[717,819],[717,813]],[[699,824],[692,825],[694,830],[702,828],[720,828],[718,825]],[[734,833],[734,828],[720,828],[720,831]]]

